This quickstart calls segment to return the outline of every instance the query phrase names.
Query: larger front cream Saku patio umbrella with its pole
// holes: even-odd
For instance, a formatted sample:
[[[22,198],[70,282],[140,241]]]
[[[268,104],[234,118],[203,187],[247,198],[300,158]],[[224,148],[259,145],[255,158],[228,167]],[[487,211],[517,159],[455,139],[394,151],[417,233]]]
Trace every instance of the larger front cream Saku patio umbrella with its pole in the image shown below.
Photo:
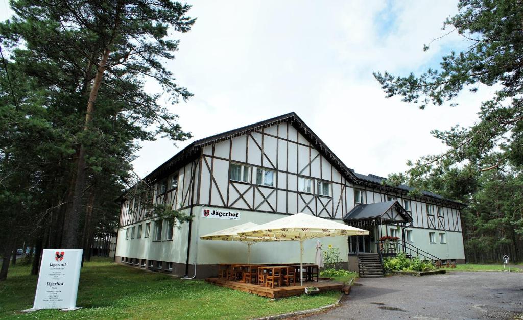
[[[239,231],[240,236],[288,239],[300,242],[300,284],[303,285],[303,242],[313,238],[367,235],[362,230],[350,225],[319,218],[305,213],[296,213],[285,218],[260,224],[247,230]]]

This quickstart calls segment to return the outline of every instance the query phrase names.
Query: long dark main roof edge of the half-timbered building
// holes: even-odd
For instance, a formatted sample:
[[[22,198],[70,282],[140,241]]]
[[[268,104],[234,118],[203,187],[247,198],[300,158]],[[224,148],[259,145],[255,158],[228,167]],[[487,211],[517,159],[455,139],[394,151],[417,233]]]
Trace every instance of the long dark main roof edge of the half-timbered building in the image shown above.
[[[203,147],[208,145],[220,143],[226,141],[236,136],[241,136],[253,131],[260,130],[261,128],[271,127],[272,125],[289,122],[293,127],[298,130],[309,142],[320,152],[346,179],[349,180],[352,184],[368,186],[373,189],[380,189],[385,192],[395,192],[395,193],[406,193],[413,188],[410,188],[405,185],[400,186],[386,186],[381,184],[381,180],[385,179],[376,175],[362,175],[355,172],[354,169],[348,168],[335,154],[332,150],[309,128],[308,125],[301,120],[300,117],[294,112],[287,113],[278,117],[270,118],[264,121],[256,122],[253,124],[245,125],[244,127],[237,128],[234,130],[225,131],[219,134],[211,135],[207,138],[203,138],[197,141],[192,142],[183,150],[175,154],[173,157],[168,159],[162,165],[153,170],[149,175],[147,175],[144,180],[154,181],[158,178],[162,178],[176,170],[177,168],[193,161],[198,158]],[[419,197],[422,200],[432,200],[440,203],[452,203],[454,207],[464,207],[465,204],[457,202],[451,199],[445,199],[439,195],[436,195],[431,192],[423,191],[423,197]],[[427,199],[428,198],[428,199]]]

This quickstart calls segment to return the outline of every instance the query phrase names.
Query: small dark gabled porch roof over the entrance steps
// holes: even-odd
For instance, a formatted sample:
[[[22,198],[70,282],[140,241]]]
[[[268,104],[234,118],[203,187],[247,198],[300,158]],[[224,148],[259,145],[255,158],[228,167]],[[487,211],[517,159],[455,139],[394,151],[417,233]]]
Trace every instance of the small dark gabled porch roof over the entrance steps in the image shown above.
[[[394,213],[396,211],[397,213]],[[392,222],[412,222],[412,216],[397,200],[356,205],[344,217],[343,221],[381,219]]]

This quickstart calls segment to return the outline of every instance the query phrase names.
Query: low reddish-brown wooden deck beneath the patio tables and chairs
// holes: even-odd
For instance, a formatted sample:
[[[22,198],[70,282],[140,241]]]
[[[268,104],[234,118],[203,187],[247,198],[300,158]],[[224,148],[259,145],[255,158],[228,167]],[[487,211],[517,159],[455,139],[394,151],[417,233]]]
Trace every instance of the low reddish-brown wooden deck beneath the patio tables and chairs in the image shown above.
[[[221,287],[231,288],[238,291],[266,296],[268,298],[284,298],[286,296],[300,295],[305,293],[305,288],[316,287],[320,291],[327,290],[342,290],[343,283],[335,281],[320,280],[320,282],[305,282],[304,285],[291,285],[289,287],[266,288],[261,285],[245,283],[241,281],[231,281],[223,278],[207,278],[207,282],[211,282]]]

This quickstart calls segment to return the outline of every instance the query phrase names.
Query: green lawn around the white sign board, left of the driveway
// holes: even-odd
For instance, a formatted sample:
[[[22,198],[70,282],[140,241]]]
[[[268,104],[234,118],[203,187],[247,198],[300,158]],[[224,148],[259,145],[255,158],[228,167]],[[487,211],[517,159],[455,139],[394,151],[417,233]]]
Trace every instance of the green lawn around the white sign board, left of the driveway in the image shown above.
[[[271,300],[218,287],[202,280],[179,280],[96,259],[82,269],[78,288],[78,311],[42,310],[20,314],[32,307],[36,276],[29,267],[9,269],[0,282],[0,318],[206,318],[246,319],[308,310],[336,303],[339,292],[301,295]]]

